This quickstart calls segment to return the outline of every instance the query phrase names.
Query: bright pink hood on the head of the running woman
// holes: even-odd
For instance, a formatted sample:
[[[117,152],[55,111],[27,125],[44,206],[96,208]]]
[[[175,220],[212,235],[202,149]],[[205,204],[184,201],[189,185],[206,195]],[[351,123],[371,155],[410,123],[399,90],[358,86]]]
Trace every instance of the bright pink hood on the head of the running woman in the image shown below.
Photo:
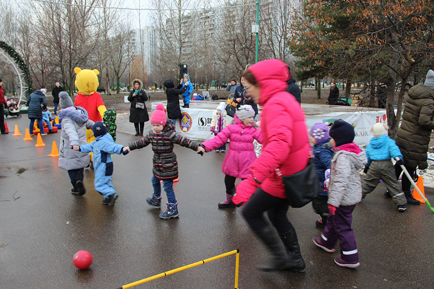
[[[281,60],[268,59],[247,68],[259,84],[261,96],[259,104],[264,105],[277,92],[285,91],[288,87],[289,69]]]

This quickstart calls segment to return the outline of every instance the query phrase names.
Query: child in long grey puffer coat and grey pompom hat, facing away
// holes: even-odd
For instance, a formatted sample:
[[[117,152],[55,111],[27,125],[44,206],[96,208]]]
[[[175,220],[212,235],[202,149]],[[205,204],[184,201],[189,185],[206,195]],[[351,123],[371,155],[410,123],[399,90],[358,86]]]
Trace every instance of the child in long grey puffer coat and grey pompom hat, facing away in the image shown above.
[[[71,193],[82,196],[86,193],[83,184],[83,171],[89,165],[90,156],[87,153],[74,151],[87,143],[86,128],[92,129],[94,122],[89,119],[87,111],[82,107],[74,107],[68,92],[59,93],[60,107],[59,118],[62,120],[62,132],[59,144],[59,168],[68,170],[71,179]]]

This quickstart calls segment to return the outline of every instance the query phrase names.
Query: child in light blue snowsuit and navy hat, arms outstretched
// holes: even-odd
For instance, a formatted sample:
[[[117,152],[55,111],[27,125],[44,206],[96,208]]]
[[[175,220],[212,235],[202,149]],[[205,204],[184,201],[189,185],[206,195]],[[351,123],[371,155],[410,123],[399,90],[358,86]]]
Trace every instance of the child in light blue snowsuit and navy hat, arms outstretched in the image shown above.
[[[112,185],[113,161],[110,155],[126,155],[128,148],[115,143],[101,121],[97,121],[92,126],[92,131],[96,139],[81,145],[79,150],[83,153],[94,153],[95,190],[105,198],[102,200],[103,204],[113,205],[118,195]]]

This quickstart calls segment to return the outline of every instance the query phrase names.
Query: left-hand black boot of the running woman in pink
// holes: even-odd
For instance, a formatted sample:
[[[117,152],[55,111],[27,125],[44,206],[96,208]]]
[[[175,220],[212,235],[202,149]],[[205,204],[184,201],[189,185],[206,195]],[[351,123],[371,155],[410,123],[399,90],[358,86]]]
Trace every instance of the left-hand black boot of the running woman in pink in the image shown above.
[[[287,270],[289,267],[288,256],[274,236],[273,230],[267,226],[262,231],[255,231],[255,233],[273,255],[269,263],[261,264],[258,268],[264,271]]]

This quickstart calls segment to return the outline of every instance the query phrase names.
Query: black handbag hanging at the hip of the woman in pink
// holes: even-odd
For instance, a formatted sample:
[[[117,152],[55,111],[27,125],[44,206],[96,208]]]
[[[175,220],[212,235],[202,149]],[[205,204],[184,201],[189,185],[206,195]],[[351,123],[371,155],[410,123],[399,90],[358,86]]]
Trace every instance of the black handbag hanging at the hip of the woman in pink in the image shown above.
[[[313,158],[309,158],[306,168],[298,173],[283,177],[280,170],[277,170],[277,174],[283,180],[285,194],[292,207],[301,208],[319,195],[320,187]]]

